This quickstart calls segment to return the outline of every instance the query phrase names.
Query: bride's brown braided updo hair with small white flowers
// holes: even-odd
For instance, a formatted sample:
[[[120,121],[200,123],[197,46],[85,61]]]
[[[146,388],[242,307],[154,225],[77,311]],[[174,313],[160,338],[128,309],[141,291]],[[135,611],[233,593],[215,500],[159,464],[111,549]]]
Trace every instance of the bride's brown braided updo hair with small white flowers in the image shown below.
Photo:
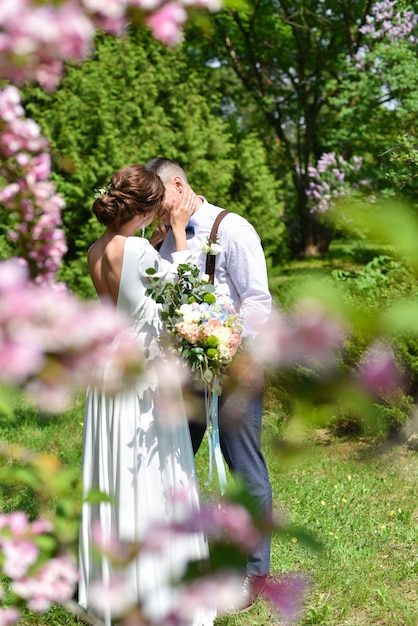
[[[161,178],[143,165],[127,165],[101,189],[92,211],[104,226],[119,228],[135,215],[158,214],[164,199]]]

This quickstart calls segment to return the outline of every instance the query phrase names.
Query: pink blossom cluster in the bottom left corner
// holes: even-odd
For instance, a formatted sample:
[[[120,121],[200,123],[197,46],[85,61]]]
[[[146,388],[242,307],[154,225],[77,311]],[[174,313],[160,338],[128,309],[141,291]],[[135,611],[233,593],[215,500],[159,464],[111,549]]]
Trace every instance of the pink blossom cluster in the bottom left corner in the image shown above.
[[[42,519],[29,522],[21,511],[0,514],[1,572],[11,579],[11,591],[32,611],[44,612],[52,602],[70,600],[78,581],[72,555],[41,554],[38,539],[51,531],[50,522]],[[45,556],[52,558],[43,562]],[[14,624],[18,619],[16,608],[4,608],[0,612],[0,624]]]

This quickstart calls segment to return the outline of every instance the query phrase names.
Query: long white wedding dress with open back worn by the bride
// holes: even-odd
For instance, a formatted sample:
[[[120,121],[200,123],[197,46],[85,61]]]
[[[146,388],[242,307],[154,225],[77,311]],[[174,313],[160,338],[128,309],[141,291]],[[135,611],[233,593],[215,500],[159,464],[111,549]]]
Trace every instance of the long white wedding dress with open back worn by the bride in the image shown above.
[[[183,253],[176,253],[185,261]],[[175,255],[174,255],[175,256]],[[131,565],[120,572],[111,560],[98,557],[92,545],[92,531],[99,526],[105,541],[117,537],[140,542],[149,528],[182,519],[186,511],[199,508],[195,465],[187,418],[176,385],[174,405],[180,407],[180,419],[167,420],[164,403],[158,402],[158,369],[161,321],[158,305],[145,295],[148,282],[145,270],[158,272],[173,269],[146,239],[128,237],[125,243],[117,308],[132,320],[134,338],[141,338],[149,354],[146,377],[116,395],[89,388],[86,397],[83,436],[83,487],[85,494],[99,489],[113,503],[83,504],[80,529],[79,604],[88,613],[98,615],[109,626],[117,621],[112,613],[112,588],[119,574],[125,576],[123,599],[140,603],[152,624],[161,624],[176,603],[176,588],[170,584],[184,571],[188,561],[208,556],[206,539],[201,533],[172,537],[161,551],[141,552]],[[156,360],[154,360],[156,359]],[[170,370],[170,390],[173,377]],[[103,377],[103,389],[106,375]],[[171,412],[171,411],[170,411]],[[168,423],[167,423],[168,422]],[[173,495],[183,491],[183,497]],[[186,494],[186,496],[185,496]],[[94,531],[93,531],[94,532]],[[105,589],[99,595],[97,583]],[[113,587],[112,587],[113,586]],[[106,593],[107,590],[107,593]],[[123,596],[123,597],[122,597]],[[215,612],[197,610],[185,624],[210,626]]]

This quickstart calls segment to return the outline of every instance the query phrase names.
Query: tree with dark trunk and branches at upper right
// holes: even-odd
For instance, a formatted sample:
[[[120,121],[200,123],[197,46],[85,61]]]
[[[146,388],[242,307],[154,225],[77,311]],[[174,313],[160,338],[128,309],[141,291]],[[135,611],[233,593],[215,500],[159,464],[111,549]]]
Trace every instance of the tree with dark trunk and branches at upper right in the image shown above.
[[[378,9],[391,11],[382,20],[392,20],[393,36],[367,32],[370,20],[379,25]],[[357,152],[376,177],[379,148],[416,113],[416,40],[401,30],[395,35],[397,12],[405,9],[405,2],[386,0],[249,0],[244,11],[215,14],[203,42],[190,26],[190,50],[224,72],[230,110],[263,138],[276,176],[291,178],[287,219],[296,225],[295,251],[323,243],[307,203],[308,168],[325,152]]]

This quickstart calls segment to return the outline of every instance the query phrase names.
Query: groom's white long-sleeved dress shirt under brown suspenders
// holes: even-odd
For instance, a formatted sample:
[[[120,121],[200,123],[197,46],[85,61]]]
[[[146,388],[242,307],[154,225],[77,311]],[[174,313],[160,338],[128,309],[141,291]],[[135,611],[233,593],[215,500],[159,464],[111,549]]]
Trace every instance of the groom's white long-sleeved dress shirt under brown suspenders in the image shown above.
[[[210,231],[216,216],[223,209],[207,202],[192,215],[187,236],[193,262],[205,272],[206,252]],[[221,252],[215,258],[215,291],[229,296],[243,323],[243,337],[254,336],[271,312],[271,294],[267,268],[260,237],[254,227],[237,213],[228,213],[218,228],[217,243]],[[168,231],[160,249],[165,259],[171,259],[175,250],[173,233]]]

